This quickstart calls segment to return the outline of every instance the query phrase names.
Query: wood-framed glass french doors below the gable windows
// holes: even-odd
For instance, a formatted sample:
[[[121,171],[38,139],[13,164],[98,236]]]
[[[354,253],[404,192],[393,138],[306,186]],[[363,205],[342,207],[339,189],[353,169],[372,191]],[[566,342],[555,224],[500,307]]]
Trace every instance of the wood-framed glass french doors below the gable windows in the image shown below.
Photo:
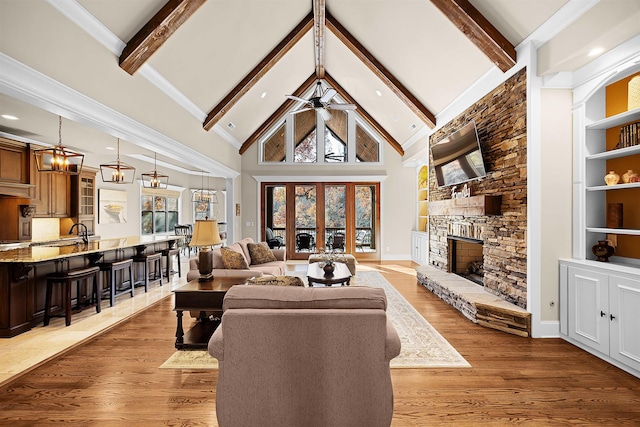
[[[380,259],[378,183],[263,183],[266,228],[285,242],[287,259],[333,249]]]

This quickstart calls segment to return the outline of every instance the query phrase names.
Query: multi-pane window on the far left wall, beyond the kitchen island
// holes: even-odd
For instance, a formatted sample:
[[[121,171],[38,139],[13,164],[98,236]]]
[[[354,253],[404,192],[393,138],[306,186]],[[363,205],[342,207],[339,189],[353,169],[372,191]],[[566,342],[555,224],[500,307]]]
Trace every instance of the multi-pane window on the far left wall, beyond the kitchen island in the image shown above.
[[[142,196],[141,234],[173,232],[178,223],[179,197],[144,194]]]

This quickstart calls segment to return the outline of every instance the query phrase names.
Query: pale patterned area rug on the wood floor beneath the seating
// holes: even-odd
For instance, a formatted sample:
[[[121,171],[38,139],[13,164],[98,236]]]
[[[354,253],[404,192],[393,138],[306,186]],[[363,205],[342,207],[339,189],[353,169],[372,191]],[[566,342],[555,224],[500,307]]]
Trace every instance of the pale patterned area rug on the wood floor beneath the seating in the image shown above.
[[[418,311],[376,271],[358,272],[351,286],[382,288],[387,294],[387,315],[398,331],[402,350],[392,368],[467,368],[469,363]],[[161,368],[217,369],[218,361],[205,350],[176,351]]]

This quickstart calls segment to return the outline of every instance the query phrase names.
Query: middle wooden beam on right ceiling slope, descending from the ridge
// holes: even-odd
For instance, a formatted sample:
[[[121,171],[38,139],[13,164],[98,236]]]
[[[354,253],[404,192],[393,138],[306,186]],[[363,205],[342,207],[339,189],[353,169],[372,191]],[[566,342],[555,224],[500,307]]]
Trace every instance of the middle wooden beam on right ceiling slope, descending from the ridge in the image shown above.
[[[391,91],[404,102],[411,111],[429,127],[436,125],[436,116],[395,78],[365,47],[358,42],[336,18],[326,12],[327,28],[342,41]]]

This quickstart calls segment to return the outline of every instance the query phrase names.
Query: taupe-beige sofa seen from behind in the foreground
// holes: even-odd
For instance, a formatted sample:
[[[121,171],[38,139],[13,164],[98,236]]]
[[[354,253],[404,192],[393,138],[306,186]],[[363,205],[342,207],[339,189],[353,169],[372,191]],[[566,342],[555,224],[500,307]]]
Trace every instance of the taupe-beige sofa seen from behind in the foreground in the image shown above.
[[[209,341],[221,427],[389,426],[400,338],[379,288],[234,286]]]

